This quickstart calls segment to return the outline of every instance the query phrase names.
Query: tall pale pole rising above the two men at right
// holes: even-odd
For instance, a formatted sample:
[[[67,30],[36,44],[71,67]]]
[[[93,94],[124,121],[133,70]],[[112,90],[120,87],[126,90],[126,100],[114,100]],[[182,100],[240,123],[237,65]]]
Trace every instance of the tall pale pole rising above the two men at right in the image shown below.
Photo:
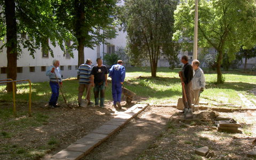
[[[195,28],[194,28],[194,46],[193,59],[197,59],[197,27],[198,27],[198,0],[195,0]]]

